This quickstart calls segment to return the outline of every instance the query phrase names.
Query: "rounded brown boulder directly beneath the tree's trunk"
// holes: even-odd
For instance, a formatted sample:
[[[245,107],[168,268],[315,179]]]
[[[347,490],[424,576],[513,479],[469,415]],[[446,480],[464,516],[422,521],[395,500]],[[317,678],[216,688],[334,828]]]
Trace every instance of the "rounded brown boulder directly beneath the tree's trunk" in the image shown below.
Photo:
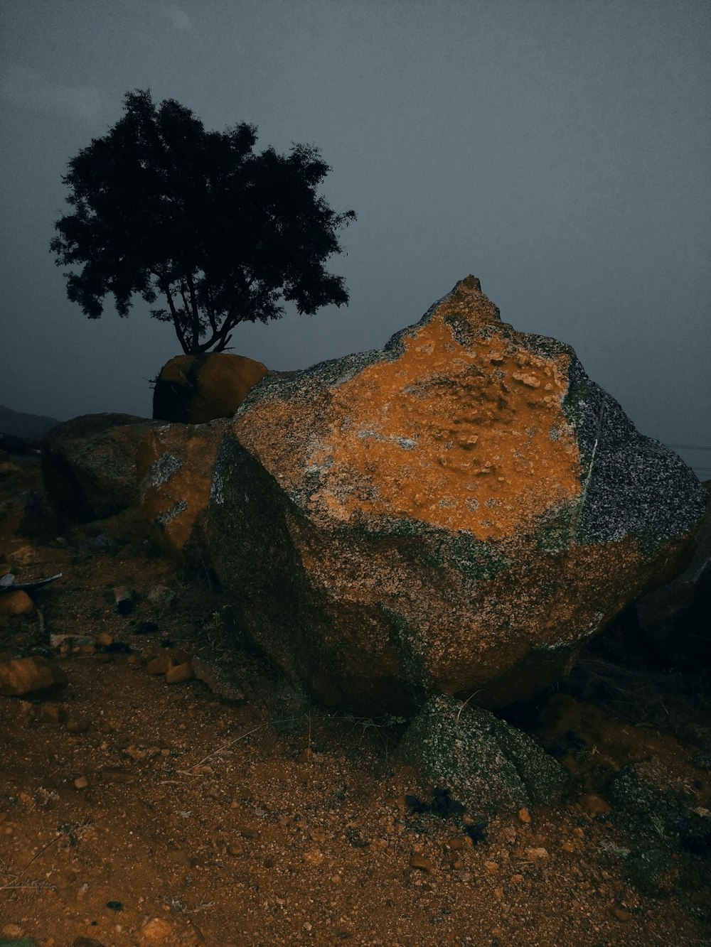
[[[242,355],[178,355],[158,375],[153,416],[186,424],[231,418],[266,372],[261,362]]]

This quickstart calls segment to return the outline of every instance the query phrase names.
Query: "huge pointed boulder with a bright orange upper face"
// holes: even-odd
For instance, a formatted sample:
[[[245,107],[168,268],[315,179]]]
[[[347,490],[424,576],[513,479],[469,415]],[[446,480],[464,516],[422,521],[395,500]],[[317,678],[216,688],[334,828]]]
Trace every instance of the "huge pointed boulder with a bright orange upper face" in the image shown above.
[[[467,277],[385,348],[253,389],[212,480],[211,562],[319,700],[524,700],[674,574],[706,491],[572,348]]]

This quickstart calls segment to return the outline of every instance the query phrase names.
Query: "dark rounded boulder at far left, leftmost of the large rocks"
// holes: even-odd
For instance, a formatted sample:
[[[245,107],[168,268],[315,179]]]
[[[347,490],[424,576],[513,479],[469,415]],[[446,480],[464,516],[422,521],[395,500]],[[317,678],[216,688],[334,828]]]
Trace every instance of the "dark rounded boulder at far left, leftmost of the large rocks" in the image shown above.
[[[138,442],[156,422],[134,415],[82,415],[53,427],[42,478],[54,509],[80,520],[105,519],[137,505]]]

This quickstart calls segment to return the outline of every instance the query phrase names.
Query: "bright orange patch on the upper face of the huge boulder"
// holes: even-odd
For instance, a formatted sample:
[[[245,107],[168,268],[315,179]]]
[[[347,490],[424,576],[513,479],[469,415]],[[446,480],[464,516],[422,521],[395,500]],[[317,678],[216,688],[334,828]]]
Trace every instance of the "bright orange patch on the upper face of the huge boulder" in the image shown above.
[[[463,280],[402,336],[399,354],[331,388],[318,433],[311,426],[298,444],[262,440],[259,456],[283,486],[319,472],[310,507],[337,520],[408,517],[481,540],[532,526],[579,495],[580,463],[561,407],[570,358],[538,355],[519,335],[502,326],[478,280]],[[254,405],[249,427],[264,416],[275,435],[293,432],[301,405],[281,407]],[[235,430],[251,447],[246,427]]]

